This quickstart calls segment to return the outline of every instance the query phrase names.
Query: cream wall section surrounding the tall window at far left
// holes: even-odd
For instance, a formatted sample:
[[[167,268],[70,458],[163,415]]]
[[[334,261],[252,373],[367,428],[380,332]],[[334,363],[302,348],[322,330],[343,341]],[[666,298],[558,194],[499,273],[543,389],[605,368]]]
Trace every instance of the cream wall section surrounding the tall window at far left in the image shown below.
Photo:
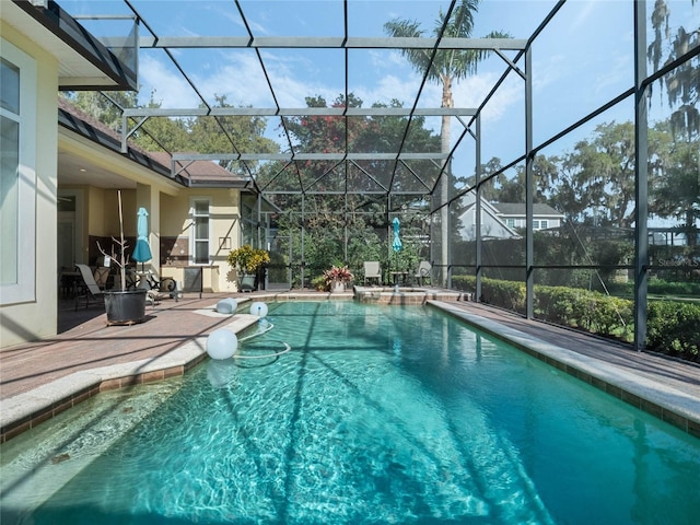
[[[57,331],[57,144],[58,62],[46,49],[0,23],[2,38],[36,61],[36,140],[35,228],[22,232],[22,243],[35,248],[34,296],[27,301],[0,305],[0,346],[2,348],[56,335]],[[27,96],[23,92],[22,96]],[[3,246],[4,248],[4,246]],[[2,302],[2,301],[0,301]]]

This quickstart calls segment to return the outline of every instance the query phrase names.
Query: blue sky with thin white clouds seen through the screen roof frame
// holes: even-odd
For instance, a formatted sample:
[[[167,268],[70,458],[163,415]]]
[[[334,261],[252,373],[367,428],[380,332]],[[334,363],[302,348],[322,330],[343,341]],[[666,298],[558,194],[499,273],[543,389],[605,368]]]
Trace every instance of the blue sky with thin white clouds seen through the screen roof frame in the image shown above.
[[[245,36],[246,26],[233,0],[130,0],[148,27],[141,36]],[[341,0],[241,0],[248,27],[256,36],[342,36],[343,2]],[[654,0],[649,0],[651,10]],[[670,0],[670,32],[679,25],[700,27],[700,2]],[[102,0],[59,0],[69,13],[118,14],[130,12],[124,2]],[[489,32],[509,33],[514,38],[528,38],[539,26],[553,0],[483,0],[475,14],[474,37]],[[445,0],[350,0],[348,31],[351,36],[384,37],[383,24],[400,18],[415,20],[430,36],[438,13],[446,10]],[[105,31],[93,30],[96,34]],[[150,31],[149,31],[150,30]],[[121,26],[121,33],[125,27]],[[652,30],[648,30],[651,38]],[[570,0],[535,40],[532,50],[534,143],[547,141],[598,106],[633,85],[633,25],[630,0]],[[267,73],[277,88],[280,107],[305,107],[307,96],[322,95],[335,100],[345,92],[345,52],[342,50],[261,49]],[[509,59],[515,51],[505,51]],[[185,70],[190,85],[173,60],[161,49],[142,49],[139,63],[140,103],[152,95],[162,107],[194,108],[201,97],[214,104],[215,95],[225,95],[233,105],[275,107],[258,58],[252,49],[174,49],[172,57]],[[517,62],[524,69],[523,60]],[[508,69],[500,57],[491,57],[478,66],[478,73],[454,85],[457,107],[478,107],[494,82]],[[348,54],[348,89],[364,101],[389,103],[396,98],[410,107],[421,85],[398,50],[357,49]],[[524,81],[511,72],[482,113],[482,162],[499,158],[502,164],[524,154]],[[665,118],[668,109],[656,91],[650,116]],[[441,86],[427,84],[419,107],[439,107]],[[571,151],[573,144],[587,138],[595,126],[633,119],[633,101],[626,101],[570,137],[542,150],[544,154]],[[279,136],[277,121],[267,135]],[[430,118],[435,132],[440,120]],[[456,119],[452,128],[453,143],[464,131]],[[465,138],[456,155],[457,170],[474,172],[474,141]]]

